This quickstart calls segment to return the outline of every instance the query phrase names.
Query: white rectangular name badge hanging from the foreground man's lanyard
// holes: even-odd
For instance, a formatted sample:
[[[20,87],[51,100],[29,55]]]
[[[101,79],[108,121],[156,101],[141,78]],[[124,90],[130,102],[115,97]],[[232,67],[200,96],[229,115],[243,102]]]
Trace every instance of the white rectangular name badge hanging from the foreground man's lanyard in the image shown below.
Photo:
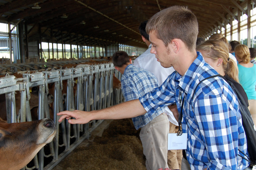
[[[182,135],[177,136],[177,133],[168,133],[168,150],[180,150],[187,149],[187,139],[188,133],[182,133]]]

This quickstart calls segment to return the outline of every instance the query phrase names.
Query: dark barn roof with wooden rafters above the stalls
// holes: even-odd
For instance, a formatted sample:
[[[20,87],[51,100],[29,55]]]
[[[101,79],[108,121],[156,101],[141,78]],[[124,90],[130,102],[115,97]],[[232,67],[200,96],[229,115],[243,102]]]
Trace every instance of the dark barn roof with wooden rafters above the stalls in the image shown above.
[[[25,22],[33,28],[28,34],[43,41],[146,47],[140,22],[172,5],[194,12],[199,37],[237,19],[238,11],[247,13],[247,0],[0,0],[0,21]]]

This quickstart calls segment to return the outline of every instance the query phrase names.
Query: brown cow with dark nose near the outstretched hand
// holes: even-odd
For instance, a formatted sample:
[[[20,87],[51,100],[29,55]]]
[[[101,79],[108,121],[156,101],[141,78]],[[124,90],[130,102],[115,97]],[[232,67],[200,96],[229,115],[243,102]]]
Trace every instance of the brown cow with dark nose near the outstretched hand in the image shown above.
[[[20,170],[56,135],[48,118],[33,122],[6,123],[0,120],[0,170]]]

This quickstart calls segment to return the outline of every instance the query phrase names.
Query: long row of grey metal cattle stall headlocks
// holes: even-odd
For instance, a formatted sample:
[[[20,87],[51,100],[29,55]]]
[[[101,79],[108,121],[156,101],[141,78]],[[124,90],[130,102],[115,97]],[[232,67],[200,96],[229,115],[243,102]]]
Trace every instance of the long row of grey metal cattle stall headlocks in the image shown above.
[[[63,62],[1,65],[9,72],[0,78],[0,95],[6,98],[8,123],[32,121],[33,117],[52,118],[56,123],[56,139],[47,144],[23,170],[50,170],[75,149],[103,120],[71,125],[58,122],[58,112],[69,110],[92,111],[122,102],[122,91],[113,89],[113,75],[121,78],[112,63],[83,64],[86,60]],[[80,64],[79,64],[80,63]],[[65,64],[76,67],[61,69]],[[32,71],[32,69],[45,69]],[[57,69],[59,68],[59,69]],[[11,75],[17,70],[28,70],[22,77]],[[36,97],[33,88],[38,88]],[[53,101],[50,101],[50,97]],[[19,100],[17,100],[19,99]],[[36,113],[31,101],[38,100]],[[17,105],[20,104],[20,108]],[[36,115],[36,116],[35,116]]]

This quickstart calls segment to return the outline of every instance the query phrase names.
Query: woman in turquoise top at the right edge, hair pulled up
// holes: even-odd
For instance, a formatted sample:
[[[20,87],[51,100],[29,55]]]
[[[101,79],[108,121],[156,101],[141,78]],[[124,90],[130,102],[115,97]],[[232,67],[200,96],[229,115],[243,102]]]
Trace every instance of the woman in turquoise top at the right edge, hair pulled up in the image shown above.
[[[250,63],[250,50],[244,45],[240,44],[234,49],[235,57],[238,61],[239,82],[245,89],[249,99],[249,111],[256,122],[256,65]]]

